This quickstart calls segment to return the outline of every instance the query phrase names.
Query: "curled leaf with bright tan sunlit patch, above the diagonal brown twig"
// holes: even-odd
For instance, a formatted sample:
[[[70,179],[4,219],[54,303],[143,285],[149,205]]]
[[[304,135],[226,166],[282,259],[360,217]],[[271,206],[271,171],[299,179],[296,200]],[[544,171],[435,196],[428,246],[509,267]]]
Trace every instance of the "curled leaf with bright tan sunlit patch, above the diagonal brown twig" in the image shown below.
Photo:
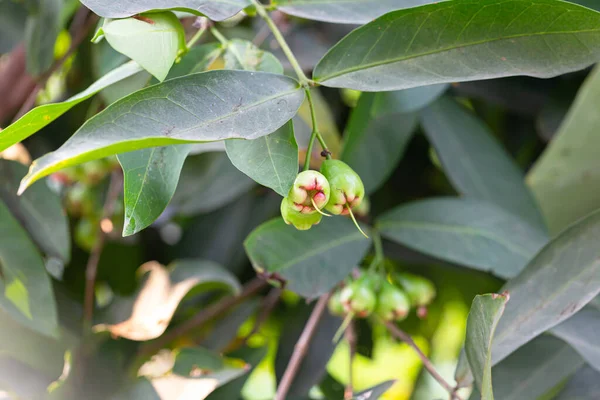
[[[139,272],[149,273],[143,286],[133,296],[117,297],[99,316],[102,323],[94,327],[95,331],[136,341],[155,339],[167,329],[184,297],[215,290],[240,291],[237,278],[210,261],[179,260],[168,267],[151,261]]]

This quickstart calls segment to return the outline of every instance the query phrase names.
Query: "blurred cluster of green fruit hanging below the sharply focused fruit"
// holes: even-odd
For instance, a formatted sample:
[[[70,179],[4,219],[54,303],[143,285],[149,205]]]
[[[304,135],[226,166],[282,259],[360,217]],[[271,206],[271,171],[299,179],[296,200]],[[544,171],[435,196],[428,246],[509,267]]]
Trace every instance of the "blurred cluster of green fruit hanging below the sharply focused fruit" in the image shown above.
[[[333,293],[329,311],[333,315],[358,318],[374,315],[387,322],[402,321],[411,308],[416,308],[417,316],[425,318],[427,306],[436,295],[433,283],[406,272],[392,278],[397,285],[376,273],[361,275]]]

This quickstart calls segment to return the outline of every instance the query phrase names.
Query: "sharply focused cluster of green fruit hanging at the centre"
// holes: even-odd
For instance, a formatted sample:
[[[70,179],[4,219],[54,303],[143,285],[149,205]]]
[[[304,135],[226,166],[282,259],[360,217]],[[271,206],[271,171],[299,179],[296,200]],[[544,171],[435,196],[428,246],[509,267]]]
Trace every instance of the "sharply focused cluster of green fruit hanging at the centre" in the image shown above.
[[[364,197],[362,180],[348,164],[325,160],[321,172],[308,170],[298,174],[281,202],[281,216],[286,224],[307,230],[321,222],[324,215],[330,216],[323,210],[354,219],[352,210],[362,204]]]

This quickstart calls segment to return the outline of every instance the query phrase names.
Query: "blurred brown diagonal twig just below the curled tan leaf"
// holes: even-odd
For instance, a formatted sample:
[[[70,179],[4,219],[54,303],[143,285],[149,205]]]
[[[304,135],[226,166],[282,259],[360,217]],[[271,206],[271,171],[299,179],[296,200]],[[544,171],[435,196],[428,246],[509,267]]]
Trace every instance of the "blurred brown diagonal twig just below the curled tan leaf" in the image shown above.
[[[264,279],[260,277],[254,278],[244,286],[240,294],[237,296],[225,297],[220,301],[210,305],[192,318],[166,332],[154,342],[143,346],[140,350],[140,354],[143,356],[150,356],[156,353],[177,338],[184,336],[193,329],[196,329],[211,319],[218,317],[228,309],[242,303],[247,298],[254,296],[268,285],[269,284]]]

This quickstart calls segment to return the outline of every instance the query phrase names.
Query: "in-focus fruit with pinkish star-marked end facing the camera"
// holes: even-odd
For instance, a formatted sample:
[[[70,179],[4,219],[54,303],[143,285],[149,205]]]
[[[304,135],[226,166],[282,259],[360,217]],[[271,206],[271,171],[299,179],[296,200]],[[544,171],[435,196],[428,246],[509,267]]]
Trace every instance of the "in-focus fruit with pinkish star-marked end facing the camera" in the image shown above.
[[[302,214],[314,214],[329,201],[330,188],[327,179],[318,171],[302,171],[296,177],[288,193],[292,208]]]

